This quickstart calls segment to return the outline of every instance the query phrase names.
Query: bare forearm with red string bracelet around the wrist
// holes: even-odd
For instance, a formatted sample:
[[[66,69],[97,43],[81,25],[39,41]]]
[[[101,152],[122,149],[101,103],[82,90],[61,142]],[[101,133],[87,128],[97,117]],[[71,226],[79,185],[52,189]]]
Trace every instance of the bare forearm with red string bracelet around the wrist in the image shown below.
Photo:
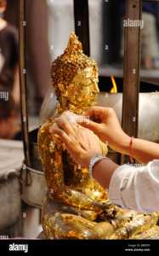
[[[130,137],[123,140],[119,152],[130,155]],[[159,159],[159,144],[133,138],[132,152],[134,159],[146,164],[150,160]]]

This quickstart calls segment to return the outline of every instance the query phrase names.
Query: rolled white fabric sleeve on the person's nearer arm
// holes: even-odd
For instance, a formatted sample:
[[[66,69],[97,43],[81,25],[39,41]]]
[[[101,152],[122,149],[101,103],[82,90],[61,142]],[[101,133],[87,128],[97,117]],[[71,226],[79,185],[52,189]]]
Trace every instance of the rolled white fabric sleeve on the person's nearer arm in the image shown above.
[[[138,212],[159,211],[159,160],[146,166],[119,166],[111,177],[109,198]]]

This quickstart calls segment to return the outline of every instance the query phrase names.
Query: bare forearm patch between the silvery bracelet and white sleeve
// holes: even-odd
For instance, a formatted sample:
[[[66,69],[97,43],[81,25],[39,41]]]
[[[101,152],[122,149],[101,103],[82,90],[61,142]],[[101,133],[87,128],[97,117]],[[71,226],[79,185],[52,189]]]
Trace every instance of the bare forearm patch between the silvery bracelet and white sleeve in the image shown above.
[[[109,188],[112,174],[116,171],[118,165],[110,159],[99,160],[94,166],[93,177],[99,184],[105,188]]]

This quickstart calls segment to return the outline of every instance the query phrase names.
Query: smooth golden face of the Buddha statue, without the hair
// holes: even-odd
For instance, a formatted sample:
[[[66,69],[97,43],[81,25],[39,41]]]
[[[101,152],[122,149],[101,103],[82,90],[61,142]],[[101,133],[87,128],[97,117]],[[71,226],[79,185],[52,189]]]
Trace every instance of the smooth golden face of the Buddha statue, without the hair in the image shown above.
[[[79,107],[92,106],[98,93],[98,76],[93,67],[80,70],[67,87],[67,99]]]

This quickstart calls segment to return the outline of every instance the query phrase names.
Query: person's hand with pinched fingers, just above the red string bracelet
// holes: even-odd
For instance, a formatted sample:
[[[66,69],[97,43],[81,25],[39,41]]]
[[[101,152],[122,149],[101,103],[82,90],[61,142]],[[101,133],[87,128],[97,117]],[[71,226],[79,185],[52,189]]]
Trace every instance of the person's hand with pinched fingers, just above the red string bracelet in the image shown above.
[[[78,124],[94,131],[101,141],[107,142],[112,149],[121,153],[125,152],[130,138],[122,131],[113,108],[93,107],[88,109],[84,116],[87,117],[87,121],[80,119],[77,121]]]

